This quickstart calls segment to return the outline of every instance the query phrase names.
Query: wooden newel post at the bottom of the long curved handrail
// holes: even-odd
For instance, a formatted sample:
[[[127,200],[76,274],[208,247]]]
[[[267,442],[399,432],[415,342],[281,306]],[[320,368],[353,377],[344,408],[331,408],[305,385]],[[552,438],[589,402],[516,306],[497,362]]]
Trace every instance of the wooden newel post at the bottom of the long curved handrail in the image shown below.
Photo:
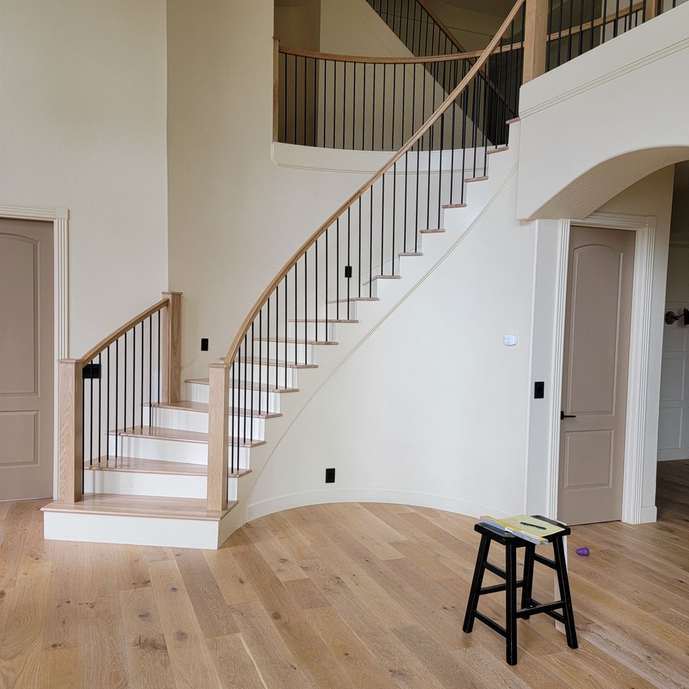
[[[227,445],[229,443],[229,367],[208,367],[208,466],[206,509],[227,509]]]

